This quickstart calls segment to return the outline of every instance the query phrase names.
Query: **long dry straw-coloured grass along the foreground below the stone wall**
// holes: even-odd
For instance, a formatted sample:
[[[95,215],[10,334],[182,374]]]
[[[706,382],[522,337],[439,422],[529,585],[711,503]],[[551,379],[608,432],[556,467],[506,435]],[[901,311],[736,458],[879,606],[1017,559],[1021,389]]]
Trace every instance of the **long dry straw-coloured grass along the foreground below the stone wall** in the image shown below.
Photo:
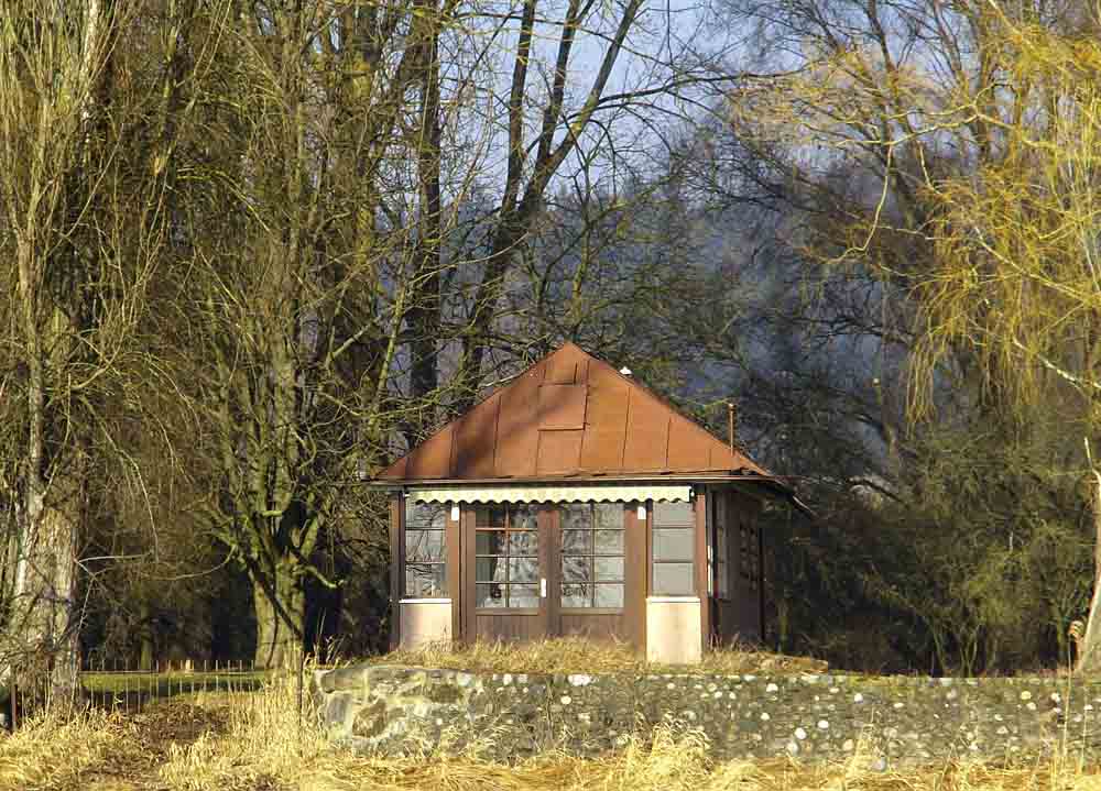
[[[705,737],[675,725],[598,758],[543,755],[515,766],[469,751],[413,758],[334,750],[308,718],[299,728],[297,688],[276,680],[261,693],[200,693],[174,715],[209,711],[208,727],[175,729],[159,760],[135,717],[87,714],[37,721],[0,737],[0,789],[69,791],[1101,791],[1101,773],[1073,760],[1000,768],[953,761],[876,771],[864,749],[844,762],[712,761]],[[165,715],[166,718],[167,714]],[[201,721],[201,716],[195,717]],[[172,733],[165,728],[165,733]],[[106,771],[105,767],[112,767]],[[128,773],[129,767],[129,773]]]

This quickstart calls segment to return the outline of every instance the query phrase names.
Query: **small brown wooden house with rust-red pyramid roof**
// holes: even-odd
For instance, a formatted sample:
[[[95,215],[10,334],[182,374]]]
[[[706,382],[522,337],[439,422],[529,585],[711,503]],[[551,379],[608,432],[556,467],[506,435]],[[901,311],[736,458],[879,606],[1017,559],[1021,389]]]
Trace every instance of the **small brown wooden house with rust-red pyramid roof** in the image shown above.
[[[764,629],[757,515],[787,486],[567,343],[380,473],[392,645],[615,637],[695,662]]]

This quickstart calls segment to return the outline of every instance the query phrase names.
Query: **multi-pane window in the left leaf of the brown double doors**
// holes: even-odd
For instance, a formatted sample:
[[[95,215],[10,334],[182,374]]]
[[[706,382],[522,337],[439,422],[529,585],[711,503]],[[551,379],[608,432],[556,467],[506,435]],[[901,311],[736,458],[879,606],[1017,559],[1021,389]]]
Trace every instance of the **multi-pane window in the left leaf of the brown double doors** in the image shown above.
[[[479,508],[475,529],[475,606],[539,606],[539,534],[536,506]]]

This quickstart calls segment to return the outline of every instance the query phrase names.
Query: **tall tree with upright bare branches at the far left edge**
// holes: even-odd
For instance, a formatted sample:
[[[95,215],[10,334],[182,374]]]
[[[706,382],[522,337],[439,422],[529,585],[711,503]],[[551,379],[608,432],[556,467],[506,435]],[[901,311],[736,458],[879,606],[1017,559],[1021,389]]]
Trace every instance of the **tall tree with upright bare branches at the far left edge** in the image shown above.
[[[126,466],[116,417],[156,367],[140,327],[186,112],[167,117],[201,62],[176,46],[193,12],[12,0],[0,18],[0,664],[57,703],[77,689],[89,482]]]

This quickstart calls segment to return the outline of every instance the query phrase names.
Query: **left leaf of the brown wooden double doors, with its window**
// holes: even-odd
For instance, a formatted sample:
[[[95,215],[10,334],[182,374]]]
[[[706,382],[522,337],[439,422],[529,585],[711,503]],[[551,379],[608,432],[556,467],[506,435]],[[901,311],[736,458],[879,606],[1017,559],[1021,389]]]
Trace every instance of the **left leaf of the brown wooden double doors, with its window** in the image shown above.
[[[554,515],[534,504],[465,507],[462,639],[531,640],[557,633]]]

